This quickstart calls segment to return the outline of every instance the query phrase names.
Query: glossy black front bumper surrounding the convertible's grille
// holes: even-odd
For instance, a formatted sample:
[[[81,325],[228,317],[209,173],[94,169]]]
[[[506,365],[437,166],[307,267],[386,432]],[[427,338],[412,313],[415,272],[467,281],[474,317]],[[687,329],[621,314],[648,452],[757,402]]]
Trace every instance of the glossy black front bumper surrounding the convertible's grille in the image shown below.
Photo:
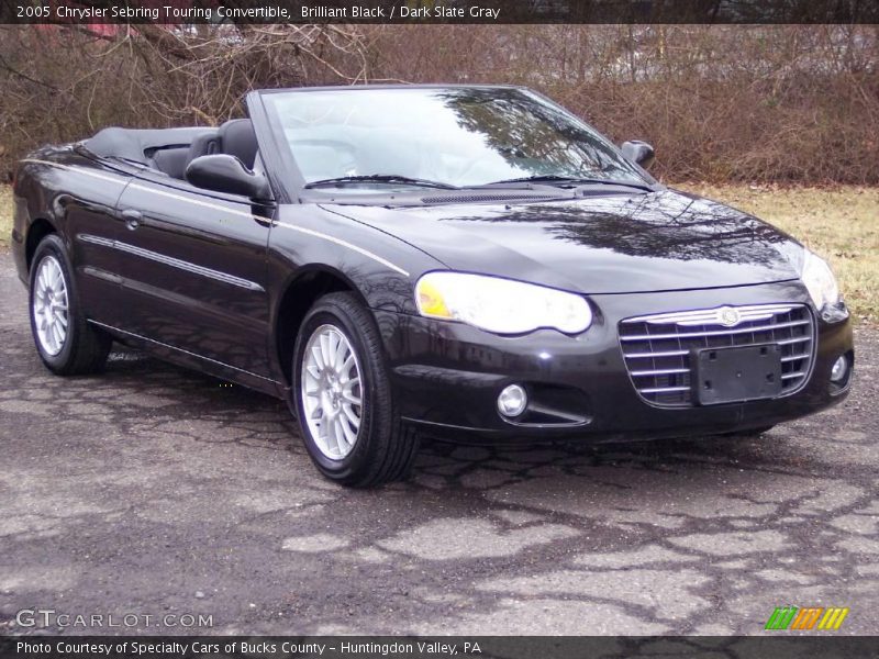
[[[579,336],[542,330],[502,337],[460,323],[377,311],[402,416],[423,432],[459,442],[582,438],[646,439],[722,434],[774,425],[838,403],[833,362],[854,360],[847,314],[816,316],[814,366],[808,382],[771,400],[660,407],[641,398],[617,337],[623,319],[719,305],[809,303],[797,281],[730,289],[593,295],[593,325]],[[497,409],[500,391],[523,383],[532,410],[519,421]]]

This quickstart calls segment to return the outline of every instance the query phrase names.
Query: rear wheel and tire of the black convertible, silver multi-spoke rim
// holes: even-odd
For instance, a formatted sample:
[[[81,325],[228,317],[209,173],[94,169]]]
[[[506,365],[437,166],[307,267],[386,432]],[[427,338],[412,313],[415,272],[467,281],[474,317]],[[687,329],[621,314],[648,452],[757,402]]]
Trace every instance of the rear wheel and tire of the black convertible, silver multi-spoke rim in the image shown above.
[[[86,321],[64,242],[49,234],[31,261],[31,334],[43,364],[58,376],[100,372],[112,339]]]

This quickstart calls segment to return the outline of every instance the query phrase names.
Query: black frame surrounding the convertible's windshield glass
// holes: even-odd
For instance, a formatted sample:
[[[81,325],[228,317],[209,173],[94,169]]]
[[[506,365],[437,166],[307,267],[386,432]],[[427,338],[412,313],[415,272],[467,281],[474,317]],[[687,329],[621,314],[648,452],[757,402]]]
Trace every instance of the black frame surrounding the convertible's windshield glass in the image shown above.
[[[630,165],[632,167],[632,172],[636,177],[641,178],[644,186],[650,189],[663,188],[663,186],[653,176],[650,176],[650,174],[647,172],[643,167],[625,158],[620,147],[615,145],[610,138],[608,138],[604,134],[602,134],[598,129],[585,122],[582,119],[580,119],[579,116],[577,116],[563,105],[559,105],[545,94],[535,91],[531,88],[519,85],[352,85],[352,86],[320,86],[320,87],[255,90],[251,92],[248,97],[258,98],[259,113],[262,114],[262,118],[265,120],[267,127],[271,133],[271,141],[274,143],[277,155],[277,157],[275,158],[275,163],[277,165],[282,165],[282,168],[286,170],[285,176],[272,177],[272,178],[275,178],[275,180],[277,180],[287,189],[288,198],[291,200],[299,200],[300,202],[314,202],[321,198],[326,198],[326,200],[330,201],[330,200],[338,200],[341,197],[343,197],[340,194],[340,189],[337,188],[332,188],[332,187],[309,188],[309,181],[305,180],[302,170],[300,169],[299,164],[297,163],[297,159],[293,156],[290,144],[285,136],[285,130],[281,124],[281,118],[270,107],[270,103],[266,102],[266,97],[276,94],[299,94],[299,93],[312,93],[312,92],[358,93],[361,91],[375,92],[380,90],[388,90],[390,92],[393,92],[396,90],[418,90],[418,89],[437,90],[437,91],[455,90],[455,89],[479,89],[488,91],[516,90],[530,94],[534,97],[538,102],[545,103],[550,108],[553,108],[554,110],[561,113],[568,121],[570,121],[577,127],[590,133],[599,143],[601,143],[601,145],[604,148],[614,153],[619,158],[621,158],[627,165]],[[251,99],[248,98],[248,105],[253,108],[255,103],[251,103],[249,101]],[[477,186],[476,188],[479,188],[479,186]],[[474,188],[463,187],[460,189],[474,189]],[[502,192],[502,189],[493,188],[493,190],[497,192]],[[513,187],[510,188],[509,190],[511,192],[514,192],[515,188]],[[352,191],[354,191],[354,189],[352,189]],[[414,189],[410,189],[409,191],[418,193],[418,191]],[[402,191],[399,188],[394,188],[393,186],[388,186],[387,192],[380,189],[359,190],[358,192],[359,193],[352,194],[352,197],[358,198],[360,200],[359,203],[364,203],[364,199],[368,196],[375,197],[376,203],[383,203],[383,200],[388,196],[394,196],[394,194],[400,196]]]

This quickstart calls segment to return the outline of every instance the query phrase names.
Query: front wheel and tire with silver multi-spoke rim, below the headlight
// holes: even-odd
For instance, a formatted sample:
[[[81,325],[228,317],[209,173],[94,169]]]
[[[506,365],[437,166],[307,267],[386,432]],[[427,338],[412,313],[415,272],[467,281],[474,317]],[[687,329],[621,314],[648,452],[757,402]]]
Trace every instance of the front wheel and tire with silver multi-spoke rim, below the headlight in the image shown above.
[[[372,314],[354,294],[327,294],[309,310],[292,381],[302,440],[321,473],[354,488],[409,476],[418,437],[397,412]]]

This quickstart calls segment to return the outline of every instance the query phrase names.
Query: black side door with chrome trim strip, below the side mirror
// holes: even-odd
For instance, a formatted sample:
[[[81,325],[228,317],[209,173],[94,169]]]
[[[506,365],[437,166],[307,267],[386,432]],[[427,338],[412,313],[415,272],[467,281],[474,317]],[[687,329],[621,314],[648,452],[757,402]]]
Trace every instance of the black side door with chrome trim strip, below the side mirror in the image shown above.
[[[209,370],[267,378],[269,223],[251,201],[145,172],[118,212],[124,330],[197,356]]]

